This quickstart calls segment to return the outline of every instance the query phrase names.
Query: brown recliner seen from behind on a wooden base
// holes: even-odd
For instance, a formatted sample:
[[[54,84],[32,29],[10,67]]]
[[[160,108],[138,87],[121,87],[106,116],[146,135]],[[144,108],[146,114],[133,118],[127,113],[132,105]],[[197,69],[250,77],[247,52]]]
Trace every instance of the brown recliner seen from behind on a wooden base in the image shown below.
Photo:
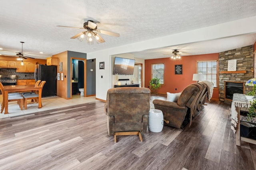
[[[104,108],[108,117],[108,135],[124,131],[146,133],[150,90],[139,87],[111,88],[107,92]]]

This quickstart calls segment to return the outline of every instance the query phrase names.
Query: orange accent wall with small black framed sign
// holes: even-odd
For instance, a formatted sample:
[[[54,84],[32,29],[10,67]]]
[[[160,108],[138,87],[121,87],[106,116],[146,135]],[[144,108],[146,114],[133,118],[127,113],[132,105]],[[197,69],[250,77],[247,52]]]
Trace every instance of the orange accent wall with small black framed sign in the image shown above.
[[[186,86],[194,83],[193,74],[196,73],[196,61],[218,60],[218,53],[182,56],[180,61],[171,61],[169,58],[145,60],[145,87],[151,80],[151,64],[164,63],[164,85],[158,89],[158,93],[166,94],[181,92]],[[182,74],[175,74],[175,65],[182,64]],[[175,90],[176,89],[176,90]],[[214,89],[212,99],[219,99],[219,90]]]

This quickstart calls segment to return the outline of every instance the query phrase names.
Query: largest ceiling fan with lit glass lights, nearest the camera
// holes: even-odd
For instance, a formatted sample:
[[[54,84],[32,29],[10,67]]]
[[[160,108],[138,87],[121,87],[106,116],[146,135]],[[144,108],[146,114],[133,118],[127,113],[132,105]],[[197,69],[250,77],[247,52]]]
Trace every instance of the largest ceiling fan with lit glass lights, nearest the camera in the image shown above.
[[[69,27],[69,26],[62,26],[62,25],[57,25],[57,27]],[[115,37],[119,37],[119,33],[114,33],[110,31],[104,31],[102,29],[97,29],[97,24],[94,23],[92,20],[88,20],[87,22],[84,23],[84,27],[69,27],[69,28],[79,28],[79,29],[85,29],[85,31],[78,33],[71,37],[71,39],[77,38],[79,41],[83,41],[84,38],[88,41],[88,44],[92,45],[93,44],[93,39],[96,40],[97,43],[104,43],[105,40],[100,36],[99,33],[106,34],[106,35],[111,35]]]

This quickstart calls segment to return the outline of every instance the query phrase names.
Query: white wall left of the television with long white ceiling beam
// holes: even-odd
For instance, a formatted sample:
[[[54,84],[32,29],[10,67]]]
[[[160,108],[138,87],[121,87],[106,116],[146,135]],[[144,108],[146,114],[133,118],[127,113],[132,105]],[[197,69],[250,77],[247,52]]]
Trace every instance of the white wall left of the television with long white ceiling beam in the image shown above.
[[[146,49],[154,49],[160,47],[168,47],[187,43],[195,43],[199,41],[209,41],[213,39],[221,39],[226,37],[238,36],[243,34],[256,33],[256,16],[244,18],[241,20],[231,21],[195,29],[174,35],[168,35],[156,39],[132,43],[102,51],[87,53],[87,59],[96,59],[96,98],[106,100],[106,94],[114,83],[112,76],[112,55],[129,53],[133,51],[142,51]],[[158,43],[155,43],[158,42]],[[107,43],[107,42],[106,42]],[[124,57],[126,58],[126,57]],[[105,62],[105,69],[99,70],[99,62]],[[136,63],[140,63],[137,62]],[[144,70],[144,68],[143,68]],[[101,78],[101,75],[103,78]],[[145,77],[143,75],[143,77]],[[143,83],[144,86],[144,83]]]

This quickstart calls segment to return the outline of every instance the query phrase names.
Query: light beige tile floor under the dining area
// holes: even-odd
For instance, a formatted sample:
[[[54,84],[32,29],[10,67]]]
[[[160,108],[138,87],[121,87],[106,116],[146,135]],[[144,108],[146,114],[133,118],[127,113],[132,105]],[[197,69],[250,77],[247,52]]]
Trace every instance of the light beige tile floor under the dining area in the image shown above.
[[[2,104],[2,94],[0,95],[0,103]],[[80,95],[73,95],[72,99],[66,100],[64,98],[60,98],[58,96],[52,96],[52,97],[46,97],[42,98],[42,108],[38,109],[38,104],[36,102],[31,102],[31,100],[28,101],[27,109],[20,110],[20,107],[18,106],[17,102],[9,102],[8,103],[8,114],[3,113],[0,114],[0,119],[4,117],[12,117],[16,115],[25,115],[29,113],[34,113],[37,111],[45,111],[50,109],[56,109],[60,107],[66,107],[66,106],[72,106],[76,104],[83,104],[83,103],[89,103],[89,102],[95,102],[99,101],[95,99],[96,96],[90,96],[90,97],[83,97]]]

